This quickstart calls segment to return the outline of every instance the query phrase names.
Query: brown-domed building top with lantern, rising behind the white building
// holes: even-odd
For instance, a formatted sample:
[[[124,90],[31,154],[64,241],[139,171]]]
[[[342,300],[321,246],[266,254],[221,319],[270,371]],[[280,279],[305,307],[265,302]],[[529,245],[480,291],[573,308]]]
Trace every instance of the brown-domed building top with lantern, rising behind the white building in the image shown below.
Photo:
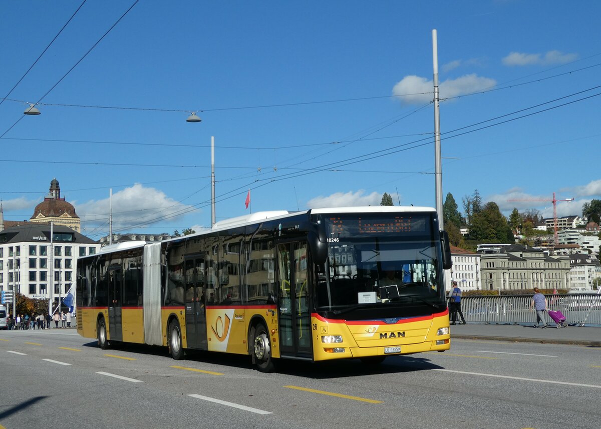
[[[34,223],[50,223],[62,225],[72,230],[81,231],[81,219],[75,212],[75,207],[61,198],[61,187],[58,180],[52,179],[50,190],[44,200],[35,206],[34,214],[29,218]]]

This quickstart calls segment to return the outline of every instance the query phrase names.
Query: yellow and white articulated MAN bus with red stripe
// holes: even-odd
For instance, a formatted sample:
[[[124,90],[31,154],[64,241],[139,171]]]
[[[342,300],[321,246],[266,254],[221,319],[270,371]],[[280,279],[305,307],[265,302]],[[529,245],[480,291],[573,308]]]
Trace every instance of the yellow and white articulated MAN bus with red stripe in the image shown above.
[[[349,207],[258,212],[162,242],[78,259],[77,328],[123,341],[325,361],[450,347],[448,238],[436,211]]]

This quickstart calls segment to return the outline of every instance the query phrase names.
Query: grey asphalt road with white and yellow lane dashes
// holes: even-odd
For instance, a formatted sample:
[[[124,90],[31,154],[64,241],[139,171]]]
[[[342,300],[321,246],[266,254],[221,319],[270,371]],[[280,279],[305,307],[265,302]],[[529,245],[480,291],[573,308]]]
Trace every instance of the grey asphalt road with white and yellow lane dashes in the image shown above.
[[[73,329],[0,332],[0,428],[598,428],[601,347],[452,340],[444,353],[287,362],[100,350]]]

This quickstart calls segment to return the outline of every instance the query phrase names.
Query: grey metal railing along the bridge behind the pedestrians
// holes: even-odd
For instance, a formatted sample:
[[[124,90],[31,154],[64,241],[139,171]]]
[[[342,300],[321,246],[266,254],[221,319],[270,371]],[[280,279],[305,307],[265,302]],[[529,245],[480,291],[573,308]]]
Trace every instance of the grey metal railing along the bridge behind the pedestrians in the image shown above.
[[[561,311],[569,325],[601,326],[601,295],[578,293],[546,298],[548,310]],[[461,309],[466,322],[534,325],[531,301],[532,295],[463,296]]]

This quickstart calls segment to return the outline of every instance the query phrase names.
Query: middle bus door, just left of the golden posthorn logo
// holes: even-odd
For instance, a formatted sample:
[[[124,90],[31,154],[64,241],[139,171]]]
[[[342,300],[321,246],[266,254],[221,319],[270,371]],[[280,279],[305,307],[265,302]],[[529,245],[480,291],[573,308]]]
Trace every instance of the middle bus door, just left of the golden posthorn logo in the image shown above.
[[[186,338],[191,349],[207,350],[207,318],[204,311],[204,258],[186,259]]]

